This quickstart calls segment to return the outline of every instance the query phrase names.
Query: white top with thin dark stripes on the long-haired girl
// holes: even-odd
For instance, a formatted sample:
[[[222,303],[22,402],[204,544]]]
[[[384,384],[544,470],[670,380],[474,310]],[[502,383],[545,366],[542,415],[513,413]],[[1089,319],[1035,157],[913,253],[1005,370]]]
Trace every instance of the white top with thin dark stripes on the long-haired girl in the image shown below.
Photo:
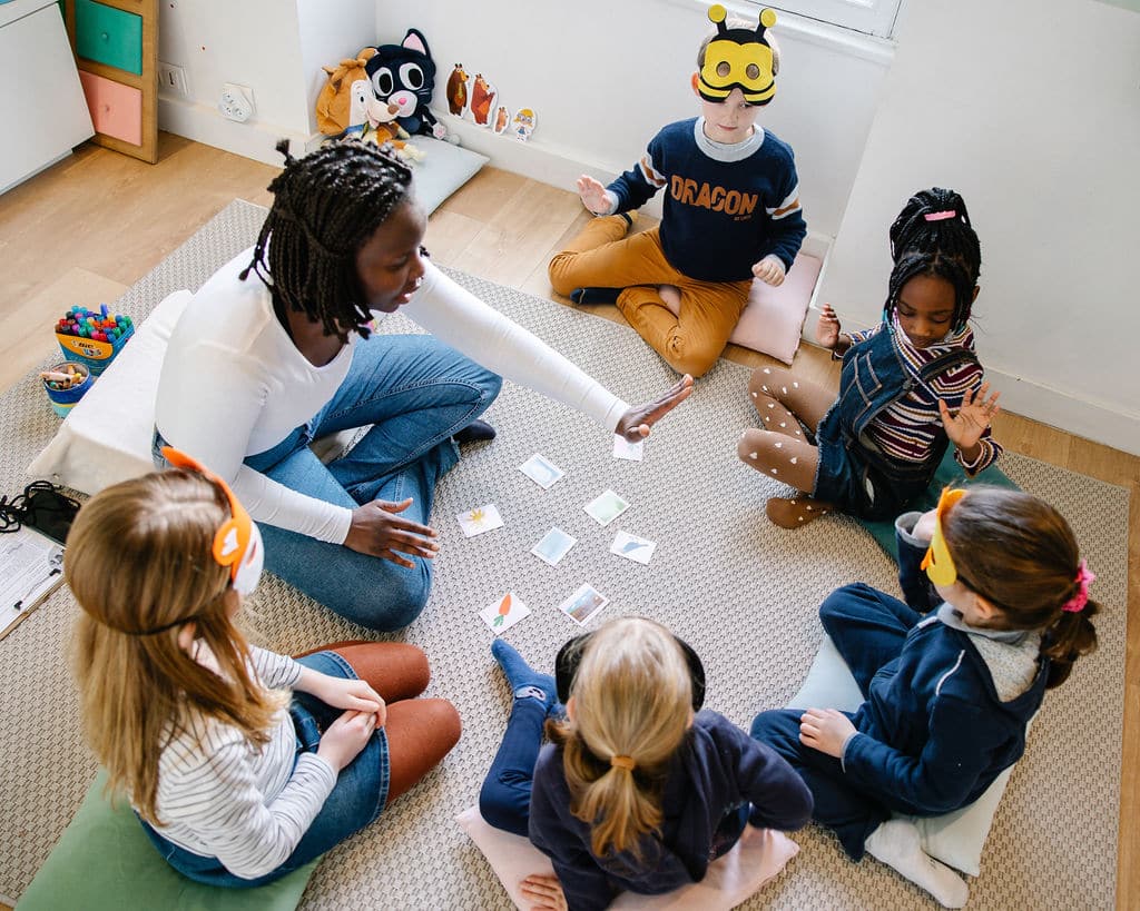
[[[199,653],[202,649],[199,649]],[[212,656],[198,654],[209,666]],[[253,649],[253,670],[268,688],[293,687],[301,665]],[[271,872],[293,853],[336,783],[316,753],[296,754],[293,721],[282,711],[264,747],[213,719],[195,719],[158,761],[157,831],[176,845],[214,856],[235,876]]]

